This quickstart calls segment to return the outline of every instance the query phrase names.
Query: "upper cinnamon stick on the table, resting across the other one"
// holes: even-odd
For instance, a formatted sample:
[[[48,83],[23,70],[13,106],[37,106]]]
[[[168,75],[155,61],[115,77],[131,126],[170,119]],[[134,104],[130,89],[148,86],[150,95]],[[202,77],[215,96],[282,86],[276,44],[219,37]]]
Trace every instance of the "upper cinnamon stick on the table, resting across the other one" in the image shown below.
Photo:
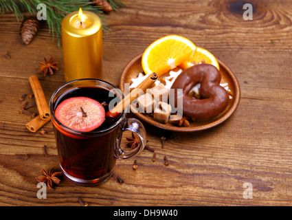
[[[30,85],[34,93],[34,98],[36,98],[36,105],[38,107],[38,113],[43,120],[50,118],[49,106],[47,105],[47,100],[45,99],[45,94],[43,94],[43,89],[37,76],[30,76]]]

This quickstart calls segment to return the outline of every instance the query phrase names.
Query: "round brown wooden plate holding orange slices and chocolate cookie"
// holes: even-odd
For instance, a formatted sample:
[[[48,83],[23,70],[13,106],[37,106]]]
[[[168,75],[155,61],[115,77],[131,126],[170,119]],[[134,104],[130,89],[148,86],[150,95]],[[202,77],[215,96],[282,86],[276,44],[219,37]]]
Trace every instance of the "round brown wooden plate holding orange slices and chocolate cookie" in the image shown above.
[[[124,68],[122,76],[120,78],[120,89],[123,93],[124,83],[131,83],[132,78],[137,78],[139,73],[143,72],[141,61],[142,54],[139,54],[138,56],[133,58],[133,60],[130,61]],[[218,63],[220,65],[220,71],[222,76],[221,83],[228,83],[229,90],[232,92],[232,99],[229,100],[229,104],[226,107],[225,111],[207,120],[194,120],[190,122],[190,126],[188,127],[179,127],[170,123],[162,124],[155,121],[149,115],[144,115],[142,113],[136,113],[137,117],[141,120],[144,120],[144,122],[152,124],[153,126],[157,126],[161,129],[166,129],[168,131],[202,131],[221,124],[222,122],[227,120],[227,118],[229,118],[238,107],[240,100],[240,86],[232,71],[221,61],[218,61]]]

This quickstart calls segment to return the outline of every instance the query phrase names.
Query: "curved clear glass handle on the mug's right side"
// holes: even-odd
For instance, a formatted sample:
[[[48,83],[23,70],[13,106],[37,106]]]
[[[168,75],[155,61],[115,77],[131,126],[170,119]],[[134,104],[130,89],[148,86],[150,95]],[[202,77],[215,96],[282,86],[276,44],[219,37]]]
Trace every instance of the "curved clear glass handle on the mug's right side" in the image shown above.
[[[137,147],[135,147],[133,150],[125,151],[120,147],[121,138],[117,138],[116,157],[118,159],[126,159],[126,158],[133,157],[139,154],[140,152],[142,152],[146,145],[146,130],[142,122],[140,122],[139,120],[135,118],[127,118],[126,123],[124,127],[122,128],[122,133],[124,131],[132,131],[136,133],[136,135],[138,135],[138,137],[140,138],[140,144]],[[122,133],[120,135],[122,135]]]

